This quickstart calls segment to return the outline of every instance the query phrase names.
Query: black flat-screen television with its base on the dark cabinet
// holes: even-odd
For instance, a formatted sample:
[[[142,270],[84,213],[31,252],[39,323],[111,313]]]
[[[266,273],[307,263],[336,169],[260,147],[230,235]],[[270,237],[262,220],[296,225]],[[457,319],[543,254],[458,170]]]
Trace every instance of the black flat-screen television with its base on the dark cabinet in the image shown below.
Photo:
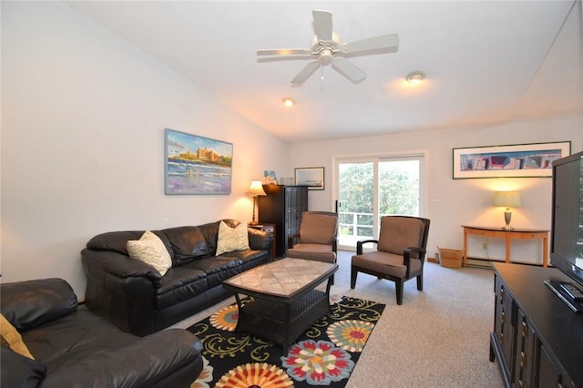
[[[550,262],[575,281],[569,293],[566,281],[545,281],[573,311],[583,311],[583,152],[553,161],[553,197]]]

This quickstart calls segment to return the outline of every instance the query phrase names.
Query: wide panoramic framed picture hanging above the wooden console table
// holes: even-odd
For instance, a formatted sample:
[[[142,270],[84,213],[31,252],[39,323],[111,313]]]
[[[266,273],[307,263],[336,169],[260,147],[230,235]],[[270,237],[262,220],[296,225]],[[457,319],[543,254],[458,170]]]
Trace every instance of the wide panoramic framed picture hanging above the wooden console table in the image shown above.
[[[553,160],[570,153],[570,141],[454,148],[454,179],[551,177]]]

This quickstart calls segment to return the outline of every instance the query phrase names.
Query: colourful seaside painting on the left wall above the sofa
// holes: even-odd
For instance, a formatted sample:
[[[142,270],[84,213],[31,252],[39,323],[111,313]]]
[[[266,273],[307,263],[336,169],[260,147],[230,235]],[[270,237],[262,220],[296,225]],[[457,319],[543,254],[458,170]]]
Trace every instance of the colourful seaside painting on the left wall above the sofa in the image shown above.
[[[230,194],[233,145],[166,129],[166,194]]]

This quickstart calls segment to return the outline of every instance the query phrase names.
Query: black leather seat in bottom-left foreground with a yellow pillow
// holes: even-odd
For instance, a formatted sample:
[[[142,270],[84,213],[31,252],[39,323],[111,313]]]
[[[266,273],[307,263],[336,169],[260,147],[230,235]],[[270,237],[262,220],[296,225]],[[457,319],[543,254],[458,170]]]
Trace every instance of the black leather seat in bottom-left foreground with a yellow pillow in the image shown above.
[[[4,283],[0,293],[3,335],[12,331],[27,349],[25,356],[21,341],[16,352],[3,343],[3,388],[189,387],[202,371],[202,345],[191,332],[122,332],[77,307],[77,296],[62,279]]]

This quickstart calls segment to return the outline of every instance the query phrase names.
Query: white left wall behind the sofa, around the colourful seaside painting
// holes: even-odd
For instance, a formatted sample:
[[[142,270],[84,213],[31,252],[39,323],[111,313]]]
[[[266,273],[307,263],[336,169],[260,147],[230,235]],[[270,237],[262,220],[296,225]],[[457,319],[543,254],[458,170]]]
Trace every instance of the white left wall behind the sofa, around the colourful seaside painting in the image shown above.
[[[66,5],[1,6],[2,281],[61,277],[82,299],[97,233],[251,220],[279,139]],[[164,128],[233,143],[231,194],[166,196]]]

